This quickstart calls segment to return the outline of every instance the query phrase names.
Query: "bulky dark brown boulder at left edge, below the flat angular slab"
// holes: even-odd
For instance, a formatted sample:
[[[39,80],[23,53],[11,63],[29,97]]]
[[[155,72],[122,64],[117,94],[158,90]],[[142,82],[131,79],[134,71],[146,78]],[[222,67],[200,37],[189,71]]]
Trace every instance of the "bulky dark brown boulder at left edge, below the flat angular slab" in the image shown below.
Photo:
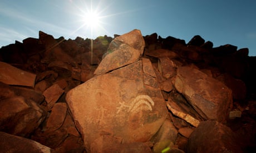
[[[46,112],[31,99],[21,96],[0,101],[0,130],[27,137],[45,119]]]

